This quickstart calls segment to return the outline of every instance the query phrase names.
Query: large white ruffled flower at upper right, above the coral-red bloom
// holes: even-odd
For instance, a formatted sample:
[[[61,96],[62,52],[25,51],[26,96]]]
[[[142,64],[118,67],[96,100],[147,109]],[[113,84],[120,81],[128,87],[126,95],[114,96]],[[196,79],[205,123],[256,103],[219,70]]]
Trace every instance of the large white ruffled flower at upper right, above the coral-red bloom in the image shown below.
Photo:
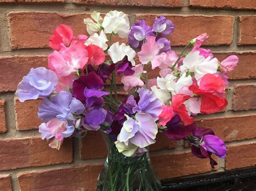
[[[218,69],[217,58],[211,59],[204,58],[204,56],[199,55],[199,51],[190,53],[184,58],[183,65],[180,66],[181,74],[186,72],[194,73],[195,78],[198,80],[205,74],[214,74]]]

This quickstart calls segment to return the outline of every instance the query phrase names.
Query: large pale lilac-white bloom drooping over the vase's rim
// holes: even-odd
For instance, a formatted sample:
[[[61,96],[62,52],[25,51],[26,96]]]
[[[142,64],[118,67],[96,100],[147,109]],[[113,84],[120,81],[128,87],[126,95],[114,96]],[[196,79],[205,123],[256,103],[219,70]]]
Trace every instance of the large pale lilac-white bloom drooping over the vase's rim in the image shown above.
[[[127,120],[123,124],[117,141],[114,143],[118,151],[131,157],[136,150],[156,142],[157,124],[149,114],[138,113],[135,120],[125,115]]]

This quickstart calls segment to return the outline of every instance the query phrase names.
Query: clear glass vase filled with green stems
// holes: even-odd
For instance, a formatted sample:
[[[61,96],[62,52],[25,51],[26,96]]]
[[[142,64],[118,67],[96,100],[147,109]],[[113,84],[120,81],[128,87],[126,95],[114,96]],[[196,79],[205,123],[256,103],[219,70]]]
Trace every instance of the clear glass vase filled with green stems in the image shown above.
[[[110,137],[103,133],[109,147],[105,165],[99,174],[96,191],[161,190],[149,152],[140,157],[126,157],[119,153]]]

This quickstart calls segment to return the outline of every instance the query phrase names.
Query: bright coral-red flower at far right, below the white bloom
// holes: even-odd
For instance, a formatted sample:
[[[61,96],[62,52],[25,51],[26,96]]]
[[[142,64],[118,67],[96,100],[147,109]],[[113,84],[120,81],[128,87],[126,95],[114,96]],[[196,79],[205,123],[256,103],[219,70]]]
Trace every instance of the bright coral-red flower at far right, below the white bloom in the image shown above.
[[[191,85],[188,89],[201,97],[200,111],[204,114],[219,112],[227,106],[227,100],[223,97],[225,84],[220,76],[206,74],[202,77],[199,87]]]

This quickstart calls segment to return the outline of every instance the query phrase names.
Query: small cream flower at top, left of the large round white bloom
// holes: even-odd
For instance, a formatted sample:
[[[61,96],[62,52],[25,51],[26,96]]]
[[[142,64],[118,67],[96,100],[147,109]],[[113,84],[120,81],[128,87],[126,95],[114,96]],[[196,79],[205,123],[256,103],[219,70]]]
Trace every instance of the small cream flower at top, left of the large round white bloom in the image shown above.
[[[100,30],[100,26],[102,25],[102,22],[103,22],[103,18],[100,16],[100,13],[97,11],[93,11],[91,13],[91,17],[93,20],[95,20],[96,23],[90,18],[84,19],[84,24],[86,24],[87,32],[90,35],[97,33]]]

